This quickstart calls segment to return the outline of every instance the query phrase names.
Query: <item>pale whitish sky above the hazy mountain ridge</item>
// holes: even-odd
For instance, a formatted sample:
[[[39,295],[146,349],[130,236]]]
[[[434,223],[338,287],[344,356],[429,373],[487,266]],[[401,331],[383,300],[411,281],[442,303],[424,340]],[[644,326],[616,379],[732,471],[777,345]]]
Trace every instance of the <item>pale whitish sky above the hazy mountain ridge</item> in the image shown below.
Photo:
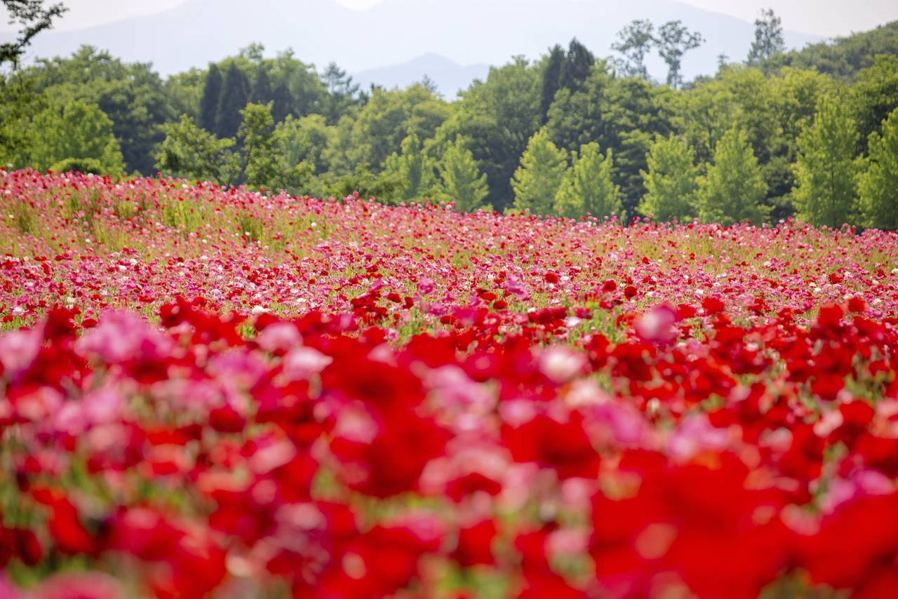
[[[52,0],[49,0],[52,1]],[[58,31],[84,29],[91,25],[119,21],[138,14],[159,13],[185,0],[63,0],[69,12],[57,23]],[[319,2],[325,0],[313,0]],[[348,8],[365,10],[383,0],[333,0]],[[451,0],[447,0],[451,1]],[[488,2],[489,0],[484,0]],[[615,0],[585,0],[615,1]],[[895,0],[680,0],[700,8],[725,13],[753,22],[762,8],[772,8],[790,31],[823,37],[866,31],[898,19]],[[546,0],[551,4],[551,0]],[[0,12],[2,13],[2,12]],[[5,19],[0,29],[8,30]]]

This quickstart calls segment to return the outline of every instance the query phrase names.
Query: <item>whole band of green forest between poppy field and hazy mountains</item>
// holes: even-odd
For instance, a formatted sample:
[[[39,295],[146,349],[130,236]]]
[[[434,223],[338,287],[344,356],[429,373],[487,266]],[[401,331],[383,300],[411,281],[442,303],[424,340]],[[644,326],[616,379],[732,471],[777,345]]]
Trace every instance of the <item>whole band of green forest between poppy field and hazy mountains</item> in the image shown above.
[[[612,56],[571,40],[455,99],[427,77],[360,89],[261,44],[164,79],[84,46],[5,69],[0,161],[462,211],[898,228],[898,22],[794,51],[774,13],[755,25],[744,60],[695,81],[680,66],[700,32],[635,21]]]

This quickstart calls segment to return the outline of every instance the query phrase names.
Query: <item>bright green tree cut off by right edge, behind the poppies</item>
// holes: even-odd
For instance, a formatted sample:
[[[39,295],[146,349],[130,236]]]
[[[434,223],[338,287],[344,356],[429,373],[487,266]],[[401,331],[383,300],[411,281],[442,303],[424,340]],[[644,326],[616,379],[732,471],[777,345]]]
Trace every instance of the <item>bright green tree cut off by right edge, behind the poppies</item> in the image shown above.
[[[885,119],[882,133],[870,134],[867,147],[867,170],[858,181],[863,223],[898,229],[898,109]]]

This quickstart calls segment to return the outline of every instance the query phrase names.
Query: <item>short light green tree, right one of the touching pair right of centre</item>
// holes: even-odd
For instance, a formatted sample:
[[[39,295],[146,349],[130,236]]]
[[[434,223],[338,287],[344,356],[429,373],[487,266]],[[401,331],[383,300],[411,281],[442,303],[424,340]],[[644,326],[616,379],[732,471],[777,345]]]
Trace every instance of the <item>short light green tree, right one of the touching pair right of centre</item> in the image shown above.
[[[595,142],[573,154],[573,164],[555,195],[555,209],[564,216],[621,216],[621,189],[612,179],[613,158]]]

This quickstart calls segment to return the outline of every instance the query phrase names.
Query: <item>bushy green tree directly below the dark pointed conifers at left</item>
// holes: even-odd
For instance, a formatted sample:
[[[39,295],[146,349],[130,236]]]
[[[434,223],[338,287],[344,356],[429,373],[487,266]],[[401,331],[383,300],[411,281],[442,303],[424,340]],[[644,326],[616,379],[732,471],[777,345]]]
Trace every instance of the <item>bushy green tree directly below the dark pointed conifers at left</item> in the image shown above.
[[[240,175],[240,157],[233,138],[219,139],[197,127],[187,115],[165,127],[165,139],[155,154],[159,172],[189,181],[233,185]]]

